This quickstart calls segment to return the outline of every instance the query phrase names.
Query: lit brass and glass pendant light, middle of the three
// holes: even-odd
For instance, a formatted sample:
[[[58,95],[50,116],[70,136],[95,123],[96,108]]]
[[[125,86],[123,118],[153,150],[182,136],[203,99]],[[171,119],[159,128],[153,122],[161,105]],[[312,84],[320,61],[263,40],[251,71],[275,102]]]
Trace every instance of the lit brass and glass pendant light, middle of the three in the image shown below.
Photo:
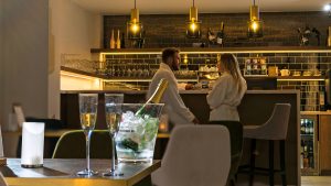
[[[186,25],[186,36],[189,39],[200,39],[201,37],[201,30],[200,30],[201,21],[197,20],[197,9],[194,6],[190,8],[190,21]]]

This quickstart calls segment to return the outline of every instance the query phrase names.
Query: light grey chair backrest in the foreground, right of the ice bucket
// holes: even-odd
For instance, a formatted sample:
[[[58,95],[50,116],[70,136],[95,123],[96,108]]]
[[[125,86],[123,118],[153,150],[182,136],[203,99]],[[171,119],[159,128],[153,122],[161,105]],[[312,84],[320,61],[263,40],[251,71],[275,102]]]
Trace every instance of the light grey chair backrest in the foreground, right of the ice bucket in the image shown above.
[[[179,125],[171,133],[157,186],[222,186],[231,166],[229,133],[223,125]]]

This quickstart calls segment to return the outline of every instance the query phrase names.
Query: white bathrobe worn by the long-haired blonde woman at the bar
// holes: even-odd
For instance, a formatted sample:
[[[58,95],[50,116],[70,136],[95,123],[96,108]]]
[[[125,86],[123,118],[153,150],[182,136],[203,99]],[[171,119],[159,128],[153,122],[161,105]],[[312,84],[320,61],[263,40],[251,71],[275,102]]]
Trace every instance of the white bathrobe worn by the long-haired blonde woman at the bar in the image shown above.
[[[241,76],[242,89],[238,91],[235,79],[228,73],[224,73],[214,84],[206,99],[212,111],[210,121],[232,120],[239,121],[237,106],[244,97],[247,85]]]

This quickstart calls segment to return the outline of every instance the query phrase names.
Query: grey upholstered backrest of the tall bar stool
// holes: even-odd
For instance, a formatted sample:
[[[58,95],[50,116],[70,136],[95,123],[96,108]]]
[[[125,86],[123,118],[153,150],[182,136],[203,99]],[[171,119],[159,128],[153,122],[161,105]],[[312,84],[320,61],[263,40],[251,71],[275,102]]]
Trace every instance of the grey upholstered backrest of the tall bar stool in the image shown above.
[[[268,121],[263,125],[266,140],[285,140],[290,117],[290,103],[276,103]]]

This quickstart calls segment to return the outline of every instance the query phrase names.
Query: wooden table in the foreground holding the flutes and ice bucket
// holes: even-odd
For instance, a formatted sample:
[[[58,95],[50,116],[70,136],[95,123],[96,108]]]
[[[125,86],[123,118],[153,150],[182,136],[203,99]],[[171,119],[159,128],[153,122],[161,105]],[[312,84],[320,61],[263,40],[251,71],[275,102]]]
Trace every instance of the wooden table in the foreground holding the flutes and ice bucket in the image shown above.
[[[22,168],[19,158],[9,158],[7,166],[1,166],[9,186],[132,186],[161,166],[161,161],[138,164],[118,164],[124,176],[103,177],[102,173],[110,168],[110,160],[92,160],[90,167],[98,175],[79,177],[75,173],[85,168],[85,160],[44,160],[44,167]]]

